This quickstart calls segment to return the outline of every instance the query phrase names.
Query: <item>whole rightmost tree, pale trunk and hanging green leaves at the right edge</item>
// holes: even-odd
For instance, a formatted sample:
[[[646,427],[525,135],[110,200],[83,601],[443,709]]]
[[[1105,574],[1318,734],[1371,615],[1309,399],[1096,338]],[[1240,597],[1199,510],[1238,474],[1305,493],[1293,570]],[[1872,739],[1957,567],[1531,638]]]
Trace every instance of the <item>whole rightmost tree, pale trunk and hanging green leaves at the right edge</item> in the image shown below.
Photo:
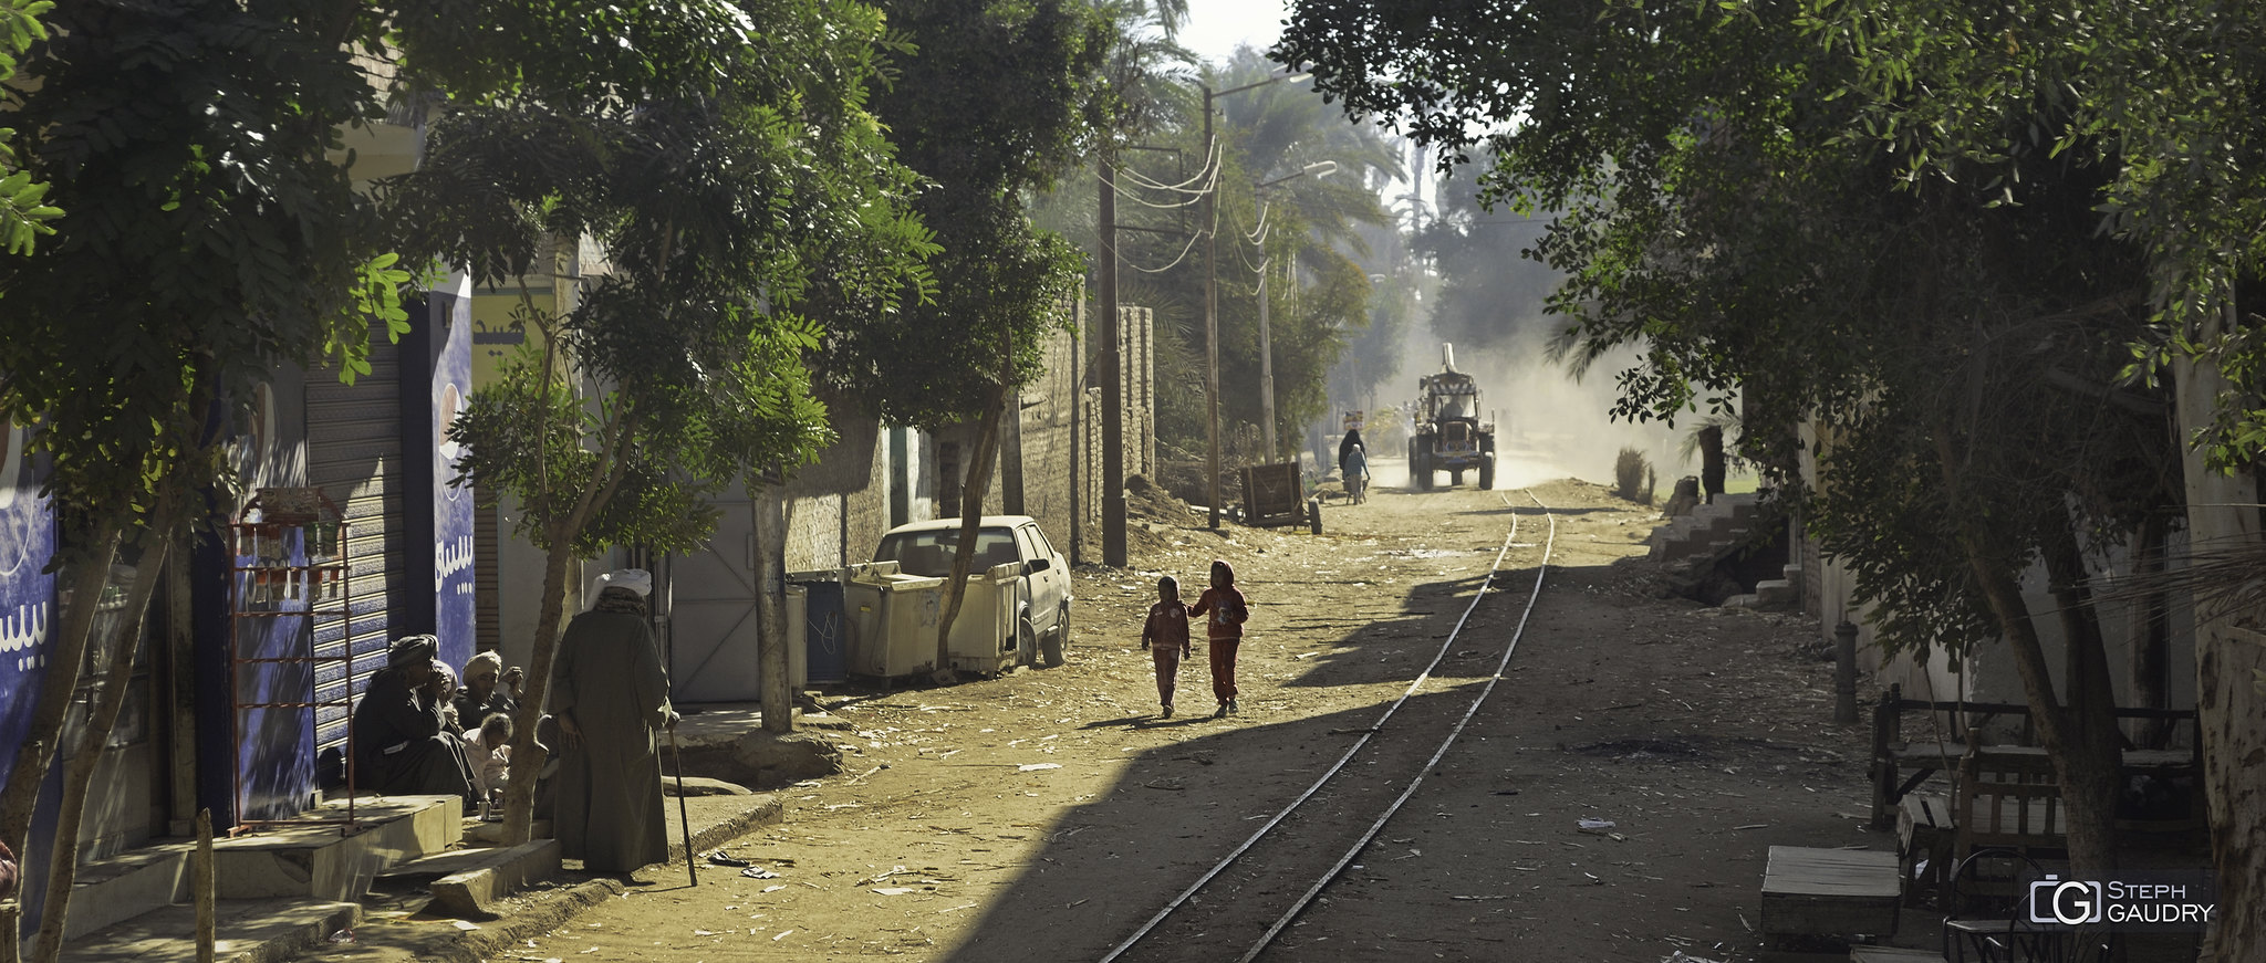
[[[2250,7],[2171,2],[2146,9],[2071,2],[2051,16],[1987,5],[1811,5],[1808,27],[1856,63],[1845,93],[1867,140],[1894,150],[1903,174],[2010,188],[2021,156],[2055,150],[2107,172],[2094,202],[2101,227],[2141,249],[2155,324],[2135,338],[2135,374],[2169,374],[2182,440],[2193,571],[2212,557],[2261,557],[2257,467],[2266,455],[2266,295],[2257,222],[2266,213],[2266,18]],[[2019,127],[2008,104],[2064,116]],[[2037,106],[2030,106],[2037,104]],[[2241,571],[2241,569],[2234,569]],[[2252,569],[2255,571],[2255,569]],[[2248,573],[2237,578],[2248,580]],[[2221,902],[2266,895],[2266,798],[2243,766],[2266,750],[2266,716],[2250,687],[2266,657],[2237,621],[2255,612],[2196,594],[2196,707]],[[2266,922],[2230,915],[2223,958],[2266,954]]]

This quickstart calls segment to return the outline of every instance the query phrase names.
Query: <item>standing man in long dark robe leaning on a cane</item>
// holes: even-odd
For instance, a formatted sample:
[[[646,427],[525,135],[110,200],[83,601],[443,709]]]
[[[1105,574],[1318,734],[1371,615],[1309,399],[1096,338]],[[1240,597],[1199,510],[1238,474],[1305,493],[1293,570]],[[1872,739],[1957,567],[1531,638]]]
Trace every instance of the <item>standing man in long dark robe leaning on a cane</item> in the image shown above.
[[[653,576],[598,576],[589,612],[566,623],[551,714],[566,743],[553,800],[560,852],[585,872],[630,872],[668,859],[657,732],[673,730],[668,673],[653,646]]]

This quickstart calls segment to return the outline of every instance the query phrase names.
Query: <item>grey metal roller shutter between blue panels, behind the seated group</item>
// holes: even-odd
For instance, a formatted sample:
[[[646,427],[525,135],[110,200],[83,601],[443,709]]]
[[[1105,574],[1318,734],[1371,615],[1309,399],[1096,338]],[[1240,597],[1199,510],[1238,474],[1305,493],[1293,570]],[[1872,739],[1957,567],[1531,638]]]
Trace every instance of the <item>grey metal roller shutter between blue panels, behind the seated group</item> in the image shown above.
[[[349,598],[351,637],[326,628],[315,637],[315,655],[353,653],[353,691],[369,689],[369,677],[385,668],[387,587],[403,571],[401,548],[401,349],[385,335],[385,324],[372,326],[369,374],[344,385],[338,372],[308,376],[306,387],[306,474],[347,512],[347,555],[351,560]],[[342,662],[324,662],[315,675],[317,700],[340,698],[347,684]],[[342,759],[347,748],[347,709],[320,709],[315,718],[315,757]],[[333,755],[340,752],[340,755]]]

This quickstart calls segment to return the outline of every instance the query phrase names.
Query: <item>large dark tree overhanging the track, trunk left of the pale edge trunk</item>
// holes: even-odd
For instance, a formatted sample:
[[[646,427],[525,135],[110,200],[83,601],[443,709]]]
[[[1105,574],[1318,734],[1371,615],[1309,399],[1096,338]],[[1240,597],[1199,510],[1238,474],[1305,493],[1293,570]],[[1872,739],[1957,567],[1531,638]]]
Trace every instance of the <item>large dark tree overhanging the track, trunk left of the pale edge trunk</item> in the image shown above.
[[[1403,116],[1450,161],[1491,152],[1491,202],[1564,211],[1541,245],[1568,272],[1552,308],[1588,358],[1645,351],[1618,412],[1745,408],[1747,455],[1858,571],[1885,641],[2005,639],[2062,768],[2071,857],[2112,866],[2116,734],[2082,553],[2159,503],[2162,478],[2137,469],[2159,449],[2132,424],[2159,401],[2110,387],[2105,356],[2137,331],[2139,258],[2092,231],[2103,172],[2021,152],[2005,206],[1965,181],[1899,179],[1894,159],[1851,145],[1863,118],[1833,95],[1858,66],[1822,52],[1795,9],[1656,14],[1530,7],[1482,25],[1307,2],[1278,54],[1317,61],[1348,109]],[[1826,437],[1820,492],[1786,471],[1797,412]],[[2067,458],[2080,437],[2116,446]],[[2033,562],[2064,600],[2060,693],[2014,591]]]

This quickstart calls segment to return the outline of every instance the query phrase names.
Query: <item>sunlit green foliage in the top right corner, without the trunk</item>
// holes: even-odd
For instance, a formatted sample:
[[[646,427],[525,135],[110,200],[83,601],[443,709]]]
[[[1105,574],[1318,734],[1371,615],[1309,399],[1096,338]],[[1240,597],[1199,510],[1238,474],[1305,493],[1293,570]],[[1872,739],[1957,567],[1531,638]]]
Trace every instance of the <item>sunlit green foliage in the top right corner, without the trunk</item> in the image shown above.
[[[2216,363],[2239,385],[2200,433],[2218,467],[2266,455],[2255,324],[2198,338],[2198,322],[2255,290],[2266,256],[2266,18],[2203,0],[2058,5],[2039,16],[1953,0],[1815,0],[1799,20],[1854,70],[1851,143],[1888,150],[1908,179],[1949,179],[2014,202],[2021,156],[2069,154],[2105,172],[2103,231],[2148,263],[2157,331],[2137,338],[2132,376],[2173,356]]]

